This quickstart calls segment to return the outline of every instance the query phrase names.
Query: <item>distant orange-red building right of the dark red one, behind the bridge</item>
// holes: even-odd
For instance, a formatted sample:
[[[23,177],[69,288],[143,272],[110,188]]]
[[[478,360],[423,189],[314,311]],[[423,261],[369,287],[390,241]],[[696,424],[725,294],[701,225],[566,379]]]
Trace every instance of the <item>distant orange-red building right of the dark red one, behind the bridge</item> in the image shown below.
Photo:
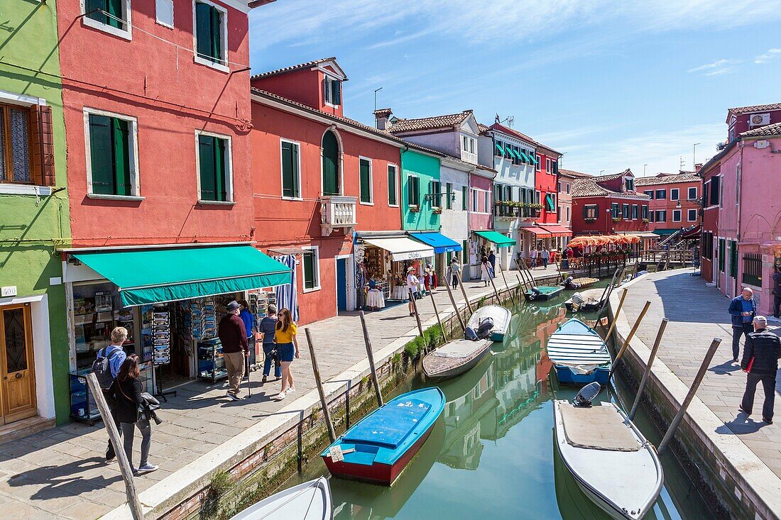
[[[638,192],[648,201],[648,229],[658,235],[701,223],[702,179],[695,172],[658,173],[635,180]]]

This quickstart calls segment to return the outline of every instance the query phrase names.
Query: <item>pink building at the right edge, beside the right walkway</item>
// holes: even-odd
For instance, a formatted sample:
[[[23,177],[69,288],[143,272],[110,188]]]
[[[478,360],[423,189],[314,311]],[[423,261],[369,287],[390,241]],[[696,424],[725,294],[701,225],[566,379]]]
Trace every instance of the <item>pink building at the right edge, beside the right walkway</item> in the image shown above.
[[[779,153],[781,122],[737,134],[700,171],[704,212],[718,213],[715,230],[704,230],[705,278],[727,297],[752,287],[763,315],[772,315],[772,274],[781,265]]]

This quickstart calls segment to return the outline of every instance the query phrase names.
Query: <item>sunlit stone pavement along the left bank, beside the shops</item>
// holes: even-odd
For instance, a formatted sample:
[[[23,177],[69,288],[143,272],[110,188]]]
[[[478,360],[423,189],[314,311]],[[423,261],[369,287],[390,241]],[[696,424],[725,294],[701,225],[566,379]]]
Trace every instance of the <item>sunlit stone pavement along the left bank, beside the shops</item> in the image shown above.
[[[552,266],[534,272],[535,277],[555,274]],[[515,271],[507,275],[509,287],[515,287]],[[498,290],[505,287],[501,276],[494,281]],[[492,294],[490,286],[485,288],[479,281],[468,281],[465,288],[473,301]],[[460,294],[461,291],[456,290],[454,297],[462,308]],[[452,305],[447,290],[440,287],[434,296],[440,313],[449,313]],[[429,297],[419,301],[419,311],[423,322],[433,318]],[[374,351],[380,351],[400,337],[417,334],[415,319],[408,315],[407,305],[369,312],[366,321]],[[366,358],[361,324],[355,312],[306,327],[312,333],[324,380],[341,374]],[[293,365],[298,390],[298,394],[291,396],[294,398],[308,394],[315,387],[303,333],[299,334],[299,342],[301,359]],[[263,419],[272,422],[275,415],[281,415],[283,408],[296,408],[297,401],[291,403],[291,397],[281,402],[271,400],[280,390],[280,383],[262,385],[260,378],[260,372],[252,373],[252,396],[239,402],[225,397],[223,383],[192,382],[177,388],[178,396],[170,397],[159,414],[164,422],[160,426],[152,426],[150,461],[160,468],[136,479],[139,493],[150,488],[165,493],[166,485],[171,486],[171,479],[166,480],[166,477],[194,461],[208,461],[209,456],[216,460],[214,454],[221,444],[236,440],[247,429],[262,423]],[[301,401],[304,401],[303,397]],[[302,405],[300,409],[305,408]],[[119,466],[116,461],[105,462],[106,440],[101,424],[90,427],[71,423],[0,444],[0,511],[3,520],[91,519],[125,504]],[[138,460],[140,442],[136,436],[135,461]]]

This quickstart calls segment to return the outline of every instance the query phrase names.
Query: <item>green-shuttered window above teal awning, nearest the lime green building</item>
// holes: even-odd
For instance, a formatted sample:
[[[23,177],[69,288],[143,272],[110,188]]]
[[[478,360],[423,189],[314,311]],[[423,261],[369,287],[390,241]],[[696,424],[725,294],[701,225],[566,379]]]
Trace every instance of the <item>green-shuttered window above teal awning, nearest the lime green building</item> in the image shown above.
[[[85,111],[89,193],[109,197],[138,195],[136,120]]]

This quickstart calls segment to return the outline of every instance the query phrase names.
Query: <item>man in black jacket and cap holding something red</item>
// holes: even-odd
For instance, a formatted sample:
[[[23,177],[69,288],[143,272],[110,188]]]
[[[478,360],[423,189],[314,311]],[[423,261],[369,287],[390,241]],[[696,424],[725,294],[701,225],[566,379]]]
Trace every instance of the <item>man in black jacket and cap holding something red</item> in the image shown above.
[[[740,368],[747,372],[746,391],[743,401],[740,401],[740,411],[751,415],[754,408],[754,394],[761,381],[765,390],[765,403],[762,404],[762,420],[773,423],[773,404],[776,400],[776,372],[781,358],[781,340],[767,329],[768,320],[765,316],[754,316],[752,320],[754,332],[746,336],[743,348],[743,359]]]

